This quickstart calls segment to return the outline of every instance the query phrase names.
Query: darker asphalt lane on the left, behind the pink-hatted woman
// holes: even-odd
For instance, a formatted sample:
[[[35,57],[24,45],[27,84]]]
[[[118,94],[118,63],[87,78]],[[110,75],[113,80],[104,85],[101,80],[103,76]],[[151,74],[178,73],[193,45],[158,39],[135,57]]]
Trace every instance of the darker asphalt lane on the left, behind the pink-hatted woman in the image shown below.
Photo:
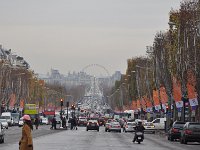
[[[50,130],[50,125],[41,125],[38,130],[34,129],[32,131],[33,138],[40,137],[47,134],[53,134],[60,132],[60,130]],[[6,147],[12,143],[16,143],[20,140],[22,134],[22,127],[12,126],[5,130],[5,143],[0,144],[0,150],[2,147]]]

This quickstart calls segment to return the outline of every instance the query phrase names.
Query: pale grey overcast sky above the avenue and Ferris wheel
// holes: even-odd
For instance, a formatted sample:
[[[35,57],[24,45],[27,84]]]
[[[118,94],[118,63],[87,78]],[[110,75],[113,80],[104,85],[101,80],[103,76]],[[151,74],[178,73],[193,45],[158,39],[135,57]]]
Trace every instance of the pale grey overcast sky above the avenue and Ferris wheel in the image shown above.
[[[0,0],[0,44],[31,69],[67,74],[99,64],[125,73],[145,56],[156,32],[168,29],[181,0]]]

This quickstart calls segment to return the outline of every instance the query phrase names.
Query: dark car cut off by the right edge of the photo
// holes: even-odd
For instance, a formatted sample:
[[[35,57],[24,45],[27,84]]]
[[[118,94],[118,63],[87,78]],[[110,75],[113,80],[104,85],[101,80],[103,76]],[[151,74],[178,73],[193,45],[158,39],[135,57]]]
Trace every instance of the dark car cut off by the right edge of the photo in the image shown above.
[[[200,142],[200,123],[187,122],[181,131],[180,143]]]

